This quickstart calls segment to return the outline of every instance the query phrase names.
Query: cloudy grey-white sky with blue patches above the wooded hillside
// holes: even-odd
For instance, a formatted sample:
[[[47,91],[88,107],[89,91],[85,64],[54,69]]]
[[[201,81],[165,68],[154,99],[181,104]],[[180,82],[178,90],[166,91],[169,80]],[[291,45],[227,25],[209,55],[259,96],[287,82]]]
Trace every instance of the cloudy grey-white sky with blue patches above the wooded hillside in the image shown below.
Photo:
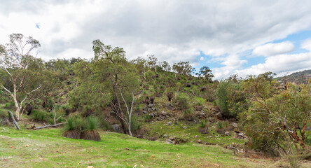
[[[311,69],[311,1],[0,0],[0,44],[21,33],[44,60],[94,57],[92,41],[127,59],[190,62],[215,79]]]

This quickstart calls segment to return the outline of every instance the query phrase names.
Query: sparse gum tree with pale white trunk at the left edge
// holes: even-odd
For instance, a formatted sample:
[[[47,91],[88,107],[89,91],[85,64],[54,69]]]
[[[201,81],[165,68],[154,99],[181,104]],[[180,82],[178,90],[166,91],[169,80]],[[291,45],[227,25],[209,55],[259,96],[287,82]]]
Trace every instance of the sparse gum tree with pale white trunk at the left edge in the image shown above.
[[[6,77],[1,76],[1,87],[10,94],[15,104],[15,116],[19,120],[25,108],[24,103],[29,104],[38,99],[36,93],[41,89],[41,85],[33,83],[38,73],[34,69],[40,69],[41,59],[34,59],[31,52],[41,45],[39,41],[32,37],[24,38],[22,34],[11,34],[10,43],[6,46],[0,45],[0,66],[6,72]],[[8,79],[4,81],[4,79]],[[38,80],[37,80],[38,81]],[[5,83],[4,83],[5,82]],[[37,85],[35,85],[37,84]]]

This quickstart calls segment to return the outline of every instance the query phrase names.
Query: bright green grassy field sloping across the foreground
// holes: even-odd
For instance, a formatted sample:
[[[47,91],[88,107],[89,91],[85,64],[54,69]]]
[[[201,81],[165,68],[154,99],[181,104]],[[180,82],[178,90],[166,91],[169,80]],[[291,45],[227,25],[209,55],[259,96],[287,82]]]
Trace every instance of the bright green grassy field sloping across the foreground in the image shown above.
[[[171,145],[101,132],[102,141],[60,137],[59,129],[0,127],[0,167],[274,167],[221,146]],[[278,161],[282,162],[282,161]]]

